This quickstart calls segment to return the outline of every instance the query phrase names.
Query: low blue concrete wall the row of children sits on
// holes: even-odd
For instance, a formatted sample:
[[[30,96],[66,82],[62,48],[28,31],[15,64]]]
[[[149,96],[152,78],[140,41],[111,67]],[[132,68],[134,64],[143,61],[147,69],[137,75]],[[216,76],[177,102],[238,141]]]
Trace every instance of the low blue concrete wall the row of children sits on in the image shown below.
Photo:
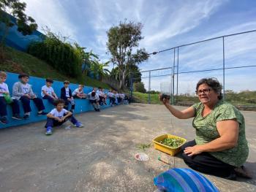
[[[9,91],[12,95],[12,85],[18,81],[18,74],[14,73],[7,73],[7,85],[9,87]],[[37,94],[37,97],[41,97],[41,88],[43,85],[45,85],[45,79],[39,78],[39,77],[30,77],[29,78],[29,84],[32,85],[32,89],[34,93]],[[63,82],[60,81],[54,81],[53,82],[53,89],[58,97],[61,95],[61,88],[63,87]],[[78,88],[78,85],[70,83],[69,88],[74,91],[75,88]],[[91,92],[92,88],[86,86],[83,88],[84,93],[89,93]],[[45,104],[45,112],[50,112],[54,107],[52,104],[48,102],[48,100],[43,99],[43,102]],[[23,116],[23,107],[20,103],[20,115]],[[104,109],[106,107],[110,107],[110,101],[108,99],[107,101],[108,105],[101,106],[101,109]],[[37,122],[40,120],[45,120],[46,116],[38,116],[37,115],[37,107],[34,105],[34,102],[31,101],[31,115],[29,120],[12,120],[12,109],[10,106],[7,107],[7,113],[8,113],[8,120],[9,123],[7,125],[3,125],[0,123],[0,128],[6,128],[6,127],[11,127],[11,126],[20,126],[26,123],[32,123],[32,122]],[[86,111],[91,111],[94,110],[91,104],[89,104],[88,99],[75,99],[75,114],[80,113],[80,112],[86,112]]]

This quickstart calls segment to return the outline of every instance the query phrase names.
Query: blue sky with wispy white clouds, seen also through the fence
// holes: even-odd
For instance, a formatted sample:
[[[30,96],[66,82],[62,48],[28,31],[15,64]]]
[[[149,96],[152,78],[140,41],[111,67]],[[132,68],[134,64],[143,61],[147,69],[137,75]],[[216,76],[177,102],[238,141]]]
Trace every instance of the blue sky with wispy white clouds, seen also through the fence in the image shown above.
[[[26,13],[41,28],[69,36],[87,50],[93,50],[102,61],[106,55],[106,31],[119,21],[143,23],[144,39],[140,47],[148,53],[202,39],[256,29],[256,1],[160,1],[160,0],[23,0]],[[255,65],[256,33],[228,37],[225,40],[226,66]],[[180,72],[222,67],[222,39],[179,50]],[[173,52],[152,55],[140,64],[141,70],[173,65]],[[111,68],[111,67],[110,67]],[[256,68],[226,71],[225,89],[256,90]],[[202,77],[217,77],[222,82],[222,71],[181,74],[180,93],[194,93],[196,82]],[[170,77],[155,77],[151,89],[159,90],[161,82]],[[143,79],[148,88],[148,80]]]

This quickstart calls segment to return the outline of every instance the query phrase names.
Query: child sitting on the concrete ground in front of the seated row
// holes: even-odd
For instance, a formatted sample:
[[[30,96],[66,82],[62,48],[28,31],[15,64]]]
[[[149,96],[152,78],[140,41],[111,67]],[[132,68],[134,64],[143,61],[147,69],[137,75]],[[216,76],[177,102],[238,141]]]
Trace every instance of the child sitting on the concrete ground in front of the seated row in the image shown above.
[[[46,135],[53,133],[53,126],[61,126],[67,120],[70,120],[76,127],[83,127],[82,123],[73,117],[72,112],[64,109],[65,101],[63,99],[57,99],[54,104],[56,108],[47,115],[47,122],[45,124]]]

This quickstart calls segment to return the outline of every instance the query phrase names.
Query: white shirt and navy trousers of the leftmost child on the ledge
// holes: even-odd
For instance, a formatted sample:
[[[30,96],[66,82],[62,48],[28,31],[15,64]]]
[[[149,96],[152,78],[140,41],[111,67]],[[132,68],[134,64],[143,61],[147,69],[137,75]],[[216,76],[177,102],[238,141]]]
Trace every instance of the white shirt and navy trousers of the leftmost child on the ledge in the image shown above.
[[[9,93],[8,85],[4,82],[0,83],[0,91]],[[17,99],[12,99],[12,104],[10,104],[10,105],[12,107],[12,114],[13,115],[20,114],[20,107],[19,107]],[[1,117],[7,116],[7,102],[4,99],[4,94],[3,93],[0,93],[0,116]]]

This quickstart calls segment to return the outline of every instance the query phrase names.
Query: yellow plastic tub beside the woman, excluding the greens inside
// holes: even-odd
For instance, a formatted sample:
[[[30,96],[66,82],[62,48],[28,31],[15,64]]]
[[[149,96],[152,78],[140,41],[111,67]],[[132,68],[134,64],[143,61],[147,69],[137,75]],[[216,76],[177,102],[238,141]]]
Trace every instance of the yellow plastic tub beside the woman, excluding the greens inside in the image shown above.
[[[156,138],[153,139],[154,148],[156,150],[161,150],[162,152],[167,153],[167,154],[172,155],[172,156],[174,156],[178,152],[180,152],[182,145],[180,145],[178,147],[169,147],[167,145],[163,145],[162,143],[159,143],[160,141],[162,141],[165,138],[181,139],[181,140],[184,141],[182,145],[184,145],[184,143],[187,142],[186,139],[184,139],[182,137],[174,136],[172,134],[164,134],[164,135],[161,135],[161,136],[156,137]]]

